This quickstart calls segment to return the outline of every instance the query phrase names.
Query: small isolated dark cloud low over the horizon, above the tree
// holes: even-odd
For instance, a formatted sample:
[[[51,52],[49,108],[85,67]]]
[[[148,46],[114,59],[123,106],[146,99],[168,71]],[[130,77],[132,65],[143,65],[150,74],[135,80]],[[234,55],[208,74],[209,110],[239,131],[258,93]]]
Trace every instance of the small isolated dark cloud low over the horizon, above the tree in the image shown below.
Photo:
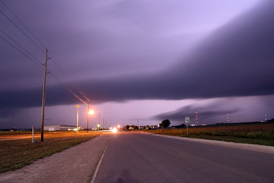
[[[180,108],[178,110],[172,111],[172,112],[164,112],[162,114],[158,114],[153,119],[158,120],[164,120],[164,119],[170,119],[171,121],[184,121],[184,117],[190,117],[192,121],[195,121],[196,114],[195,111],[199,111],[198,119],[199,121],[205,121],[206,119],[210,119],[212,117],[217,117],[220,115],[225,116],[225,114],[233,114],[234,112],[239,112],[240,109],[234,108],[234,109],[228,109],[228,110],[221,110],[219,108],[216,108],[216,106],[206,106],[206,107],[197,107],[197,106],[185,106],[183,108]]]

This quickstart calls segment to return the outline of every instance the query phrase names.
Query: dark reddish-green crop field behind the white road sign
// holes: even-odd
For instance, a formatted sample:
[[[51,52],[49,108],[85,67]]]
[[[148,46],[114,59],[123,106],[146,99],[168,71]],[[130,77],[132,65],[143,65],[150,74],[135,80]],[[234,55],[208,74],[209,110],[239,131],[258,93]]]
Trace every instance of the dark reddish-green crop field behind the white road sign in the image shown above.
[[[148,130],[147,132],[186,137],[186,128]],[[188,137],[274,146],[274,123],[219,127],[188,127]]]

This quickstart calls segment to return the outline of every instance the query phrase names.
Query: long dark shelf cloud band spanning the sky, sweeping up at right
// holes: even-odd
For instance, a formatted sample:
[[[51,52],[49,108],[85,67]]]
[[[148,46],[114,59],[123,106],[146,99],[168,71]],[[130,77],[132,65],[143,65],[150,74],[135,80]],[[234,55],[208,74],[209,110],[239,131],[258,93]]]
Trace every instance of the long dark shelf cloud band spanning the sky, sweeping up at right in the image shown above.
[[[273,94],[273,10],[274,1],[264,1],[210,34],[180,62],[156,74],[82,80],[77,84],[95,103]],[[75,103],[64,90],[59,85],[47,86],[46,105]],[[41,88],[1,90],[0,103],[7,103],[8,108],[40,106],[41,93]]]

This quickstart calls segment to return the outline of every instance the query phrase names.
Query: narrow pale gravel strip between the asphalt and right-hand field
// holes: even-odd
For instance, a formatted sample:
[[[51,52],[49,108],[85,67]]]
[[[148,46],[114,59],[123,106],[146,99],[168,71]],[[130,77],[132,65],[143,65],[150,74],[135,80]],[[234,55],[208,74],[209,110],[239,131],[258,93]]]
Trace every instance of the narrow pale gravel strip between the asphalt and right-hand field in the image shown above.
[[[220,145],[224,147],[246,149],[246,150],[257,151],[257,152],[266,153],[266,154],[274,154],[274,147],[266,146],[266,145],[232,143],[232,142],[214,141],[214,140],[201,139],[201,138],[187,138],[187,137],[181,137],[181,136],[168,136],[168,135],[162,135],[162,134],[152,134],[148,132],[144,132],[144,134],[153,135],[153,136],[162,136],[164,138],[173,138],[173,139],[182,140],[182,141],[192,141],[196,143],[208,143],[208,144]]]

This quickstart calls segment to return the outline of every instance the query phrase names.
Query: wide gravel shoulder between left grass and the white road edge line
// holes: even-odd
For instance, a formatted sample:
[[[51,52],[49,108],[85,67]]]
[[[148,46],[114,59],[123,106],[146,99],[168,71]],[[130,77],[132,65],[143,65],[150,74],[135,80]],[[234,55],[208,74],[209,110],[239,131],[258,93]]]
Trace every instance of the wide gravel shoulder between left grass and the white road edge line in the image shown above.
[[[0,182],[90,182],[110,134],[101,134],[22,169],[0,173]]]

